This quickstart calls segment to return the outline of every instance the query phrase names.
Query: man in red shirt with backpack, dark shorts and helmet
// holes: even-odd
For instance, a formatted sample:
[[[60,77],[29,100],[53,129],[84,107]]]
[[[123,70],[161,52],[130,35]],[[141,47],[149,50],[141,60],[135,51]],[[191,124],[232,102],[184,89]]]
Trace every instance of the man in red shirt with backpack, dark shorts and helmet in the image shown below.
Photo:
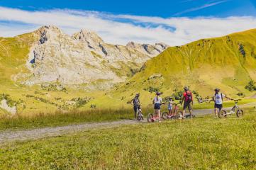
[[[183,101],[184,101],[184,106],[183,106],[182,118],[184,118],[186,108],[189,108],[190,118],[192,118],[193,96],[192,96],[191,91],[189,91],[189,88],[187,88],[187,87],[184,87],[182,103],[183,103]]]

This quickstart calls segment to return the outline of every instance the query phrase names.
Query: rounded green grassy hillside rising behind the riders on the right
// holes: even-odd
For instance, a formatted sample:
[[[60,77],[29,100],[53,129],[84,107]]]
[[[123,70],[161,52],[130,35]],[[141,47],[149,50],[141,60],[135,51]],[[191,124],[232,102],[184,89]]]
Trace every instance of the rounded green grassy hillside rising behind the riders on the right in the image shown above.
[[[250,79],[256,80],[255,38],[256,30],[247,30],[169,47],[146,62],[140,72],[118,86],[113,94],[127,98],[138,91],[147,100],[152,98],[149,91],[158,90],[170,96],[183,86],[190,86],[203,97],[211,96],[216,87],[234,98],[240,97],[238,93],[252,96],[245,85]]]

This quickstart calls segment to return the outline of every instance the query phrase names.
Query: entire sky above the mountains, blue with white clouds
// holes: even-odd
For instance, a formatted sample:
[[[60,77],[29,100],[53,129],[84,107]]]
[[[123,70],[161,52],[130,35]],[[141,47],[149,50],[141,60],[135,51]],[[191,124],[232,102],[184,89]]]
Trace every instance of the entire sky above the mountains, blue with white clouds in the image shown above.
[[[56,25],[68,34],[94,30],[111,43],[182,45],[256,28],[255,5],[256,0],[0,0],[0,36]]]

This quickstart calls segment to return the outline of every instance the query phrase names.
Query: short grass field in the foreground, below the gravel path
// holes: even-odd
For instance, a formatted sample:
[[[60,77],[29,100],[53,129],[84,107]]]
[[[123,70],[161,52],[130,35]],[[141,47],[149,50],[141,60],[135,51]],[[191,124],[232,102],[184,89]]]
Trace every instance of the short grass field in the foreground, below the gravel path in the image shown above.
[[[123,125],[1,146],[0,169],[256,169],[256,116]]]

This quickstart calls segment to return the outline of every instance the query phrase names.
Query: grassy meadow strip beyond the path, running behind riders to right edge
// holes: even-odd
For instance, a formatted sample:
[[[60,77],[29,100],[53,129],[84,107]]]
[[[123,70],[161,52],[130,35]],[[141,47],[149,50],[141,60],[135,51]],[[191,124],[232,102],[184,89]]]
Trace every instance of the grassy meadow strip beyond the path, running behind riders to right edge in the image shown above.
[[[176,101],[179,102],[179,101]],[[256,106],[256,99],[243,99],[238,105],[249,104]],[[224,107],[231,107],[233,101],[225,101]],[[194,103],[194,109],[213,109],[213,103]],[[49,108],[48,108],[49,109]],[[180,111],[182,106],[179,105]],[[148,113],[152,113],[153,106],[143,106],[143,115],[145,118]],[[162,112],[167,111],[167,105],[162,106]],[[188,111],[187,111],[188,112]],[[30,128],[56,127],[62,125],[74,125],[81,123],[93,123],[114,121],[123,119],[133,119],[133,106],[126,104],[123,108],[95,108],[87,110],[71,110],[67,112],[56,111],[54,113],[42,112],[33,114],[17,114],[14,116],[0,115],[0,131],[1,130],[20,130]]]

